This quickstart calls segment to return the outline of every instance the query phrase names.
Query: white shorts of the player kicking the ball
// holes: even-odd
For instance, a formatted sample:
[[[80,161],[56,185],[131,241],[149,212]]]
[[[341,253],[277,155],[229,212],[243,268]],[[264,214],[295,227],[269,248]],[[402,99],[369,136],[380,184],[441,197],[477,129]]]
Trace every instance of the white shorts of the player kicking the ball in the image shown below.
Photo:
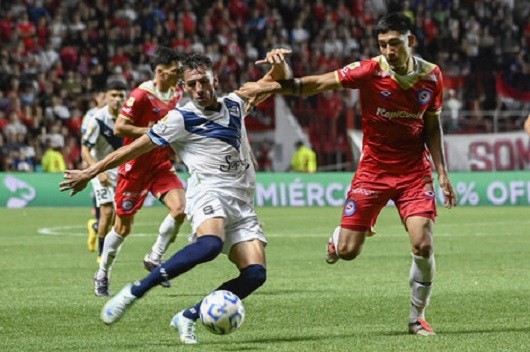
[[[188,239],[190,242],[197,240],[195,232],[204,221],[222,217],[226,221],[224,254],[228,254],[230,248],[240,242],[258,239],[264,245],[267,244],[254,207],[238,198],[208,192],[195,199],[187,199],[186,214],[193,231]]]

